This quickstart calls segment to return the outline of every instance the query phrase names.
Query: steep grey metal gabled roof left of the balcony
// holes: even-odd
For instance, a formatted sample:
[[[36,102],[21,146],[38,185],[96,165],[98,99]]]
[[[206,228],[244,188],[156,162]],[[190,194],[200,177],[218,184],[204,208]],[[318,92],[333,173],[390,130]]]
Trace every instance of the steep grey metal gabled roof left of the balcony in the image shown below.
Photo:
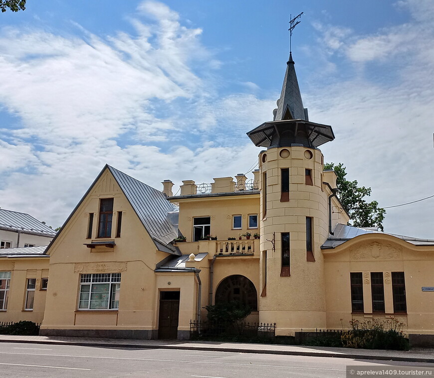
[[[178,211],[178,208],[169,202],[163,192],[146,185],[108,164],[104,166],[98,177],[94,180],[83,198],[69,215],[68,219],[59,230],[58,235],[61,234],[66,224],[72,218],[106,169],[108,169],[113,175],[120,189],[154,242],[156,248],[159,251],[181,255],[179,249],[170,244],[170,242],[178,237],[178,226],[173,225],[168,216],[169,212]],[[49,244],[47,252],[56,239],[57,236]]]

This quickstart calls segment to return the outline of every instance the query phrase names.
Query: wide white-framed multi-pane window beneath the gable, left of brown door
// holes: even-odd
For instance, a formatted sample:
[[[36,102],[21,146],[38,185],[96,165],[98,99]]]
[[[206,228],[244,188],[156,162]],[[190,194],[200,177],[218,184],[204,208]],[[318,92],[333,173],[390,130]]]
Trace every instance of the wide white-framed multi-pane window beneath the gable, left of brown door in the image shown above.
[[[82,274],[79,310],[117,310],[121,273]]]

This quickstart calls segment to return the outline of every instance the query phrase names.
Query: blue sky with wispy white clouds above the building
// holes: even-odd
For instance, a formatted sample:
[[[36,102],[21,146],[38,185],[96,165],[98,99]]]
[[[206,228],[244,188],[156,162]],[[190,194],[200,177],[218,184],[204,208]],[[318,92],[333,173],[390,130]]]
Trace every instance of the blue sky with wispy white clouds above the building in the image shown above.
[[[248,173],[292,36],[310,121],[389,207],[434,195],[431,0],[27,0],[0,14],[0,207],[63,224],[103,166],[162,190]],[[248,173],[251,178],[252,174]],[[434,238],[434,198],[385,231]]]

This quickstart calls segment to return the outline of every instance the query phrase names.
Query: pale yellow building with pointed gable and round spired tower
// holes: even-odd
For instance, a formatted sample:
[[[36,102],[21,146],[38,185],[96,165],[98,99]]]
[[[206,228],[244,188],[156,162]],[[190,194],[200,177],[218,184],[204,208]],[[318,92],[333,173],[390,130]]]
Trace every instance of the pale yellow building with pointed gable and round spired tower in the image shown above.
[[[174,196],[170,180],[159,191],[106,165],[46,250],[0,252],[0,322],[188,339],[204,306],[237,300],[277,335],[395,317],[414,345],[433,343],[434,241],[347,226],[319,149],[333,130],[309,121],[291,55],[273,113],[247,132],[266,148],[250,180],[185,180]]]

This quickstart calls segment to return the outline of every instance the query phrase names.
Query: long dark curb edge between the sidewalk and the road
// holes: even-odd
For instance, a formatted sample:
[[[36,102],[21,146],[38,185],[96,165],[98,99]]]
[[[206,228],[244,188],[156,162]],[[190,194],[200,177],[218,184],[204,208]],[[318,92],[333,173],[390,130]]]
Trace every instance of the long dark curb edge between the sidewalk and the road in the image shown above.
[[[375,356],[375,355],[358,355],[358,354],[339,354],[333,352],[295,352],[295,351],[277,351],[277,350],[255,350],[246,348],[207,348],[207,347],[188,347],[176,345],[148,345],[148,344],[110,344],[110,343],[83,343],[83,342],[61,342],[61,341],[27,341],[27,340],[1,340],[0,343],[26,343],[26,344],[45,344],[45,345],[73,345],[79,347],[107,347],[107,348],[128,348],[128,349],[172,349],[185,351],[210,351],[210,352],[234,352],[234,353],[252,353],[252,354],[269,354],[284,356],[306,356],[306,357],[328,357],[328,358],[348,358],[355,360],[380,360],[380,361],[401,361],[401,362],[419,362],[434,364],[434,358],[418,357],[399,357],[399,356]]]

